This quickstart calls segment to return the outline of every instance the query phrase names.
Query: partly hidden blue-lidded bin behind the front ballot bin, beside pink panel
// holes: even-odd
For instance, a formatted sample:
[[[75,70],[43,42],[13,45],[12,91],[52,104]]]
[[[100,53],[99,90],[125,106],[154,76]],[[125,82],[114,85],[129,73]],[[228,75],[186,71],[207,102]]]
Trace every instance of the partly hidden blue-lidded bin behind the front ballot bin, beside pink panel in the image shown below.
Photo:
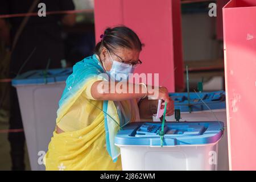
[[[226,127],[226,94],[220,90],[216,92],[190,92],[191,113],[189,113],[188,93],[170,93],[174,100],[175,109],[180,109],[180,121],[222,121]],[[203,102],[203,101],[204,102]],[[206,106],[206,105],[207,106]],[[209,108],[210,110],[209,110]],[[160,121],[153,116],[153,121]],[[176,121],[175,116],[166,117],[166,121]],[[218,170],[229,170],[228,158],[228,135],[225,132],[223,139],[219,143]]]

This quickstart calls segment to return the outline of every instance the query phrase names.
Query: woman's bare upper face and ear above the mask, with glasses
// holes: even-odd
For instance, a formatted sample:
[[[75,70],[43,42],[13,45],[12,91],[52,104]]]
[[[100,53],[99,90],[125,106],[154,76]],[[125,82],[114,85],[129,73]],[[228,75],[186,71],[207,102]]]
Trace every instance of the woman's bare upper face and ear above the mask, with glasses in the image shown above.
[[[102,48],[100,58],[102,61],[104,61],[106,71],[110,71],[113,64],[109,53],[111,54],[114,61],[122,62],[123,60],[125,63],[138,63],[140,51],[136,49],[119,48],[114,49],[113,52],[108,52],[106,48]]]

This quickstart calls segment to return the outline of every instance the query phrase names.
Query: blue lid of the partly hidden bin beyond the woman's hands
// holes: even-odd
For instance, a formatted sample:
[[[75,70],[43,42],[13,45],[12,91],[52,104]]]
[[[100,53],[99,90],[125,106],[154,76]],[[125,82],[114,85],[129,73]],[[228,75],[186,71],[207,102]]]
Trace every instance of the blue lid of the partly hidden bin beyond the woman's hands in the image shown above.
[[[223,90],[216,92],[191,92],[189,93],[189,105],[187,92],[169,93],[169,96],[174,100],[175,109],[180,109],[181,112],[190,111],[189,105],[191,111],[209,110],[208,107],[212,110],[226,109],[226,94]]]

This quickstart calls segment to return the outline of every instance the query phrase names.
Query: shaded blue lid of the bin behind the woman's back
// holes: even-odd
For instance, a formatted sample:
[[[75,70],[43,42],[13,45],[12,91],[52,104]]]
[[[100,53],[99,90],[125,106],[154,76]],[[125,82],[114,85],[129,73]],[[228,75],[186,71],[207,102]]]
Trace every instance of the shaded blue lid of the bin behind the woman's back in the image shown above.
[[[71,73],[72,68],[28,71],[15,77],[12,85],[48,84],[51,82],[65,81]]]

